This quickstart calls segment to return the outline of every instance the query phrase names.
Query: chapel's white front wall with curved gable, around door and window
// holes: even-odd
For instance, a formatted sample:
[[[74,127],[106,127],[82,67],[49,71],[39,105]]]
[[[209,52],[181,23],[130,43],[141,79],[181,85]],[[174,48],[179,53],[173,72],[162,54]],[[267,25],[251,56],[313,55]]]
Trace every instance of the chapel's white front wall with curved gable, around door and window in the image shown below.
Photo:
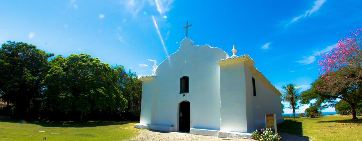
[[[190,102],[190,128],[219,130],[220,69],[217,61],[227,57],[219,48],[194,46],[190,39],[182,40],[177,52],[157,67],[152,89],[152,116],[148,115],[151,124],[174,125],[178,131],[178,103],[187,100]],[[182,76],[189,76],[189,93],[185,93],[185,97],[180,94]],[[143,92],[150,90],[147,84],[143,87]],[[145,109],[143,97],[141,108]],[[143,109],[141,121],[148,121]]]

